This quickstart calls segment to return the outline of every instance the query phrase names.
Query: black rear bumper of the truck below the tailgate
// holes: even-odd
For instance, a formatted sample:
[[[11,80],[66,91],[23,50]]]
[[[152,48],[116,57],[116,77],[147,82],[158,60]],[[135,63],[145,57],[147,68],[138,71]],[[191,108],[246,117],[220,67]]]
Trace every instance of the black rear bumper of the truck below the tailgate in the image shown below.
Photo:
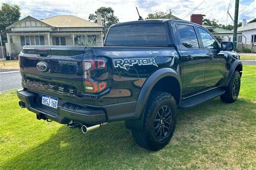
[[[67,124],[70,121],[83,124],[99,124],[106,122],[106,113],[100,108],[89,108],[68,102],[58,106],[55,110],[51,110],[42,107],[39,102],[39,95],[36,93],[22,89],[17,90],[17,96],[20,101],[25,103],[29,111],[61,124]]]

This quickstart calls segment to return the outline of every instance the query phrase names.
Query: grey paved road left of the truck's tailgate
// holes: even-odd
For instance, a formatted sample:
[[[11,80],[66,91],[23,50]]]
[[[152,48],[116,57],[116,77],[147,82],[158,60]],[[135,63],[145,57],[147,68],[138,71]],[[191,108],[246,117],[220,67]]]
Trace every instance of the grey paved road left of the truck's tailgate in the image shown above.
[[[0,74],[0,91],[11,90],[20,87],[22,86],[21,74],[19,72]]]

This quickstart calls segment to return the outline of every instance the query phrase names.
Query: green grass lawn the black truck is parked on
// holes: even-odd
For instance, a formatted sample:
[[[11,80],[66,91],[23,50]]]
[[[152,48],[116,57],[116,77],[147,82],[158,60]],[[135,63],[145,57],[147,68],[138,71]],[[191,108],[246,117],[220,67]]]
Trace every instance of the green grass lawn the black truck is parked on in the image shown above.
[[[169,145],[150,152],[134,143],[124,122],[83,134],[37,121],[18,107],[15,91],[0,93],[0,169],[256,168],[256,67],[244,66],[237,102],[219,97],[178,111]]]

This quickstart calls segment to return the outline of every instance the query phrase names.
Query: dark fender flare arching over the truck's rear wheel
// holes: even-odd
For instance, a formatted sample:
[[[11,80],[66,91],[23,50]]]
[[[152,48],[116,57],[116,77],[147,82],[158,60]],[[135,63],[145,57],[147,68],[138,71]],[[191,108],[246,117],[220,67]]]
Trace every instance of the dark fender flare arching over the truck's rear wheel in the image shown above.
[[[147,99],[150,96],[150,92],[153,89],[154,85],[161,79],[167,76],[172,76],[179,82],[180,85],[180,99],[177,105],[180,103],[181,100],[181,80],[178,73],[172,68],[160,68],[153,74],[151,74],[145,83],[143,84],[142,89],[140,90],[137,104],[134,110],[134,117],[133,120],[125,121],[125,125],[127,128],[131,130],[142,130],[143,123],[144,123],[144,109],[146,107]]]

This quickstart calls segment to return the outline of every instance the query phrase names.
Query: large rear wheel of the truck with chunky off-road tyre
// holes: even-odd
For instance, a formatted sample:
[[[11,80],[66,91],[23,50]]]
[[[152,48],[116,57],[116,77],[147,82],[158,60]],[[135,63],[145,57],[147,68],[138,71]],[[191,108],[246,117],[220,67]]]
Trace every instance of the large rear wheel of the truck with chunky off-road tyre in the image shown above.
[[[173,96],[163,91],[150,95],[145,110],[144,129],[132,131],[136,143],[152,151],[169,143],[176,127],[177,105]]]

